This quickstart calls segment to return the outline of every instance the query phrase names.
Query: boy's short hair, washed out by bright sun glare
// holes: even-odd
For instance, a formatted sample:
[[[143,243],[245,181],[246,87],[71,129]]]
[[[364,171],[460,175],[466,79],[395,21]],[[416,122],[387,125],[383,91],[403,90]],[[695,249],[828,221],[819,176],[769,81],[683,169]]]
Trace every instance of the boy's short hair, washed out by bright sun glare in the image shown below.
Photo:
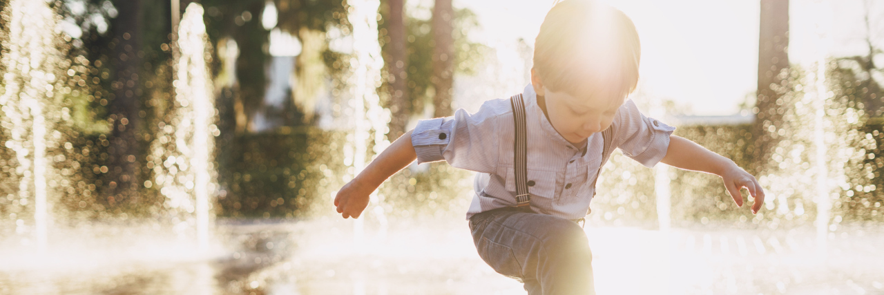
[[[622,11],[592,0],[552,7],[534,46],[534,70],[550,91],[629,95],[638,83],[641,44]]]

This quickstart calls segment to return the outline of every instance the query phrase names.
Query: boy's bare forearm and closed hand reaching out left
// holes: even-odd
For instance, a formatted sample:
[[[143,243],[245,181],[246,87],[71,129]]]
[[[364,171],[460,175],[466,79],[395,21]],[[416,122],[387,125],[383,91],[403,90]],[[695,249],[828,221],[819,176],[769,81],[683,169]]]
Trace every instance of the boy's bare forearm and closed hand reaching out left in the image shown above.
[[[369,206],[369,195],[387,178],[408,166],[417,158],[415,147],[411,145],[411,131],[393,141],[390,147],[377,155],[365,170],[359,173],[347,185],[340,188],[334,198],[334,206],[344,218],[359,218],[362,210]]]

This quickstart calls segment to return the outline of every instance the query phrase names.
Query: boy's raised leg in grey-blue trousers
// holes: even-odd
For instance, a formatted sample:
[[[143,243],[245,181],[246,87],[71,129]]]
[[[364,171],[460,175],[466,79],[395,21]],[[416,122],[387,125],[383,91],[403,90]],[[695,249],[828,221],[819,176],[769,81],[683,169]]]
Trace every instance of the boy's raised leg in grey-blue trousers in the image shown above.
[[[530,295],[595,294],[592,253],[577,223],[492,210],[473,216],[469,225],[479,256],[500,274],[522,281]]]

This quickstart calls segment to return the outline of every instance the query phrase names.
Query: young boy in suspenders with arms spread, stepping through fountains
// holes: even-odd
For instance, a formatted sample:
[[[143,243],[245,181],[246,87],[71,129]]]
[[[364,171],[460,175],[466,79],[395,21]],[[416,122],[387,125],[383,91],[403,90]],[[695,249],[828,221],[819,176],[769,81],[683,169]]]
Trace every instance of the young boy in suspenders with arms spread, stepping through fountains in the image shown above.
[[[532,295],[595,292],[590,247],[575,221],[588,214],[603,154],[613,147],[647,167],[662,162],[716,174],[741,207],[745,187],[758,213],[764,192],[754,177],[671,135],[673,127],[644,117],[626,100],[636,88],[640,51],[636,28],[623,12],[587,0],[556,4],[537,34],[531,84],[522,95],[485,102],[475,114],[457,110],[453,117],[421,121],[340,189],[338,212],[358,218],[369,194],[415,158],[476,171],[467,213],[476,250]],[[513,100],[524,103],[523,111]],[[527,165],[521,166],[514,160],[517,109],[527,127],[518,132],[526,134]],[[516,193],[526,166],[527,201]]]

